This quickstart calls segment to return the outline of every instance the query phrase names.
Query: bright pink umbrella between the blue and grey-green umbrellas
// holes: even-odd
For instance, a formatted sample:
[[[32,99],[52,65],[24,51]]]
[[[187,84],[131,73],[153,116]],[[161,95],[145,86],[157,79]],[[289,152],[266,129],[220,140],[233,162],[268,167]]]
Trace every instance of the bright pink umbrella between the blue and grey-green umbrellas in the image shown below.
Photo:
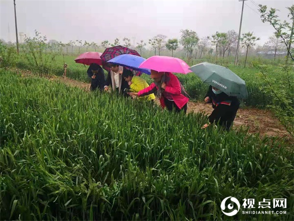
[[[152,56],[142,62],[139,68],[151,69],[158,72],[173,72],[187,74],[192,72],[189,65],[176,57]]]

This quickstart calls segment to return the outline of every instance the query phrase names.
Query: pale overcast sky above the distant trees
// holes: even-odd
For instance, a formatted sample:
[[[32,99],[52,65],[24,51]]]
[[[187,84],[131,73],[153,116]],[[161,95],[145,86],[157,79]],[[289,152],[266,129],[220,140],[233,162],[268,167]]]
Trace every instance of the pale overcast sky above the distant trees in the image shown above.
[[[265,43],[273,33],[261,22],[258,7],[277,8],[281,19],[294,0],[246,0],[242,32],[253,31]],[[114,42],[128,37],[147,41],[164,34],[179,38],[180,29],[195,30],[199,37],[216,31],[239,31],[242,2],[239,0],[16,0],[18,31],[33,36],[37,29],[48,39]],[[0,38],[15,42],[13,0],[0,0]],[[289,20],[288,20],[289,21]],[[9,28],[8,28],[9,27]],[[8,33],[10,29],[10,33]]]

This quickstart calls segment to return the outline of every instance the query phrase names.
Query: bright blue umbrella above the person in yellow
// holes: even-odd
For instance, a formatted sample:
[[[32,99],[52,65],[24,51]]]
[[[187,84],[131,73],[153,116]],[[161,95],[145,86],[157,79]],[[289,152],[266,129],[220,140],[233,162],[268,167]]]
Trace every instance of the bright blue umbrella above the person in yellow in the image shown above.
[[[149,69],[145,68],[138,68],[140,64],[145,61],[146,59],[144,57],[140,57],[137,55],[119,55],[112,59],[110,59],[108,62],[114,63],[123,67],[127,67],[130,69],[133,69],[135,71],[141,71],[143,73],[146,73],[147,75],[150,75],[151,72]]]

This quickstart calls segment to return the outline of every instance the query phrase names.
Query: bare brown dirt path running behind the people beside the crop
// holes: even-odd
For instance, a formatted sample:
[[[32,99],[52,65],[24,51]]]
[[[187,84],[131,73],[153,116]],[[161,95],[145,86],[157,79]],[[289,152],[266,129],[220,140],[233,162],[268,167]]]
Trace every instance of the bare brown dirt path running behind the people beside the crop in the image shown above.
[[[22,76],[31,75],[29,71],[18,70]],[[86,91],[90,91],[90,84],[75,81],[73,79],[53,76],[50,80],[61,81],[70,86],[79,87]],[[159,101],[157,102],[159,104]],[[189,102],[188,112],[203,112],[204,114],[210,114],[212,111],[211,104],[205,104],[204,102]],[[274,116],[274,114],[267,110],[260,110],[256,108],[243,108],[239,109],[237,116],[234,121],[233,128],[237,129],[243,126],[244,128],[249,127],[249,133],[260,133],[264,136],[278,136],[284,138],[287,141],[293,141],[293,137],[287,132],[285,127],[280,121]]]

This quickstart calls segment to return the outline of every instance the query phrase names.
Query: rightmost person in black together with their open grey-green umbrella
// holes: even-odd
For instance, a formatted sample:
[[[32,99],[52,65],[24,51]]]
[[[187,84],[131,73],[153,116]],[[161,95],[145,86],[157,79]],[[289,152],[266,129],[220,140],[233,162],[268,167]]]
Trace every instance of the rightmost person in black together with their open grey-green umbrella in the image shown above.
[[[196,64],[189,69],[210,85],[204,100],[212,103],[214,111],[208,117],[209,124],[202,128],[216,123],[229,131],[240,106],[237,97],[248,97],[245,81],[228,68],[208,62]]]

